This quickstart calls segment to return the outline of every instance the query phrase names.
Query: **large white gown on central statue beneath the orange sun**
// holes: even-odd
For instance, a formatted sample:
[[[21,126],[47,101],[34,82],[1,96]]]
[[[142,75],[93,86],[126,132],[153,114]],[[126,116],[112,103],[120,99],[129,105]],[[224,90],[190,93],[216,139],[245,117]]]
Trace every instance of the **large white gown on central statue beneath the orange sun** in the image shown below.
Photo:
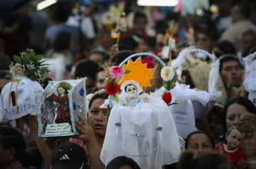
[[[142,169],[178,162],[180,143],[170,109],[160,97],[147,101],[135,99],[126,106],[121,99],[112,107],[101,150],[105,165],[122,155]]]

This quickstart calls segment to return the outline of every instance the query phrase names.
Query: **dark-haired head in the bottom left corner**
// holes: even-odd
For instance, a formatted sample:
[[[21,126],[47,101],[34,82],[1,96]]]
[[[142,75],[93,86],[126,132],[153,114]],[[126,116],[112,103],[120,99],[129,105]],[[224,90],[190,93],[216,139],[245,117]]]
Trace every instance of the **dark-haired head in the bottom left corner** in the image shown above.
[[[25,141],[22,134],[9,126],[0,126],[0,168],[23,168],[21,163],[24,155]]]

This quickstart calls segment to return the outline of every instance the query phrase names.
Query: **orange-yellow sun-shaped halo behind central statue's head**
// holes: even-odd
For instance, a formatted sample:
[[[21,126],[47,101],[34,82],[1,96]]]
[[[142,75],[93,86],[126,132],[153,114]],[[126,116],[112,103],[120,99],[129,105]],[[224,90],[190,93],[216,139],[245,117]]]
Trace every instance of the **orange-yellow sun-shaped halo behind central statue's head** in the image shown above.
[[[153,69],[148,69],[147,64],[142,64],[141,58],[137,58],[136,61],[129,59],[127,64],[122,66],[124,70],[129,70],[129,74],[124,74],[119,84],[126,82],[127,80],[135,80],[139,82],[140,87],[150,87],[150,80],[153,79],[152,72]]]

